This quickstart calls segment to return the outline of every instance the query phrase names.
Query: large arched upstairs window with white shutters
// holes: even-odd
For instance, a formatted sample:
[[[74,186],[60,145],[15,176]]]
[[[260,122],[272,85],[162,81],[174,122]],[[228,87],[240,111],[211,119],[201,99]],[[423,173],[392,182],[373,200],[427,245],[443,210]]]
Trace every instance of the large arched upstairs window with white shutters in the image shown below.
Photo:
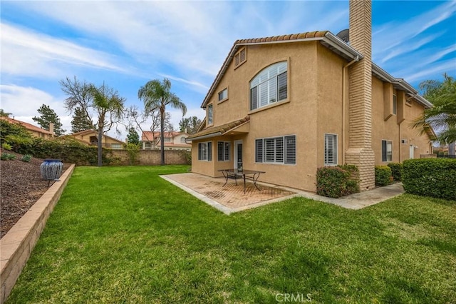
[[[287,98],[287,62],[268,66],[250,81],[250,110]]]

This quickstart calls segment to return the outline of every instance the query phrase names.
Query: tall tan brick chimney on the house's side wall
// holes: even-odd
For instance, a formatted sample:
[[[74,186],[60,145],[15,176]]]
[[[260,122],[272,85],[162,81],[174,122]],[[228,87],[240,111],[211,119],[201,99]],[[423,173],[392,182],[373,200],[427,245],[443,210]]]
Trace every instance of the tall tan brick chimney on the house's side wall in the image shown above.
[[[360,188],[375,188],[372,150],[372,1],[350,0],[350,45],[363,59],[350,67],[349,134],[346,163],[356,165]]]

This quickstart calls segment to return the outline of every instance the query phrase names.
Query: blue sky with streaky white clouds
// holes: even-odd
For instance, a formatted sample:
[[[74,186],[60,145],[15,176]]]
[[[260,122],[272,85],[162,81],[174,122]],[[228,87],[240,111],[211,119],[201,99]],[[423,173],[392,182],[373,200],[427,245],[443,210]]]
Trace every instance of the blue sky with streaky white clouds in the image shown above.
[[[372,8],[376,64],[417,89],[445,72],[456,76],[456,1]],[[199,106],[237,39],[347,28],[348,1],[2,0],[1,108],[34,123],[44,103],[70,131],[61,79],[104,81],[126,106],[142,108],[138,88],[167,77],[187,116],[203,118]],[[169,111],[177,128],[182,114]]]

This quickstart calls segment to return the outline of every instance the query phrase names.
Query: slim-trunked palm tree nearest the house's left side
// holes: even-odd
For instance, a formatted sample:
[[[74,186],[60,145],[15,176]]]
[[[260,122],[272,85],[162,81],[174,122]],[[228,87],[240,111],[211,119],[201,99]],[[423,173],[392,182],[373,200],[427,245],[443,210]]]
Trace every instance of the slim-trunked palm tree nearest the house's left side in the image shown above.
[[[144,101],[146,114],[151,114],[154,111],[160,111],[160,149],[161,149],[161,164],[165,165],[165,110],[167,106],[177,108],[182,111],[182,115],[187,113],[187,106],[183,103],[175,93],[171,93],[171,81],[167,78],[160,81],[154,79],[141,86],[138,91],[138,98]]]

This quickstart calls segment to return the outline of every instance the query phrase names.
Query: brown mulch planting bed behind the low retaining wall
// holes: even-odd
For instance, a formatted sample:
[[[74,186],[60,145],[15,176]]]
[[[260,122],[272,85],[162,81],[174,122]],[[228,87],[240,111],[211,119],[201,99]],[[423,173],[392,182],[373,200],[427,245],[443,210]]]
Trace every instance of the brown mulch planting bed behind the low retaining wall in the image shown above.
[[[48,190],[48,181],[44,181],[40,173],[42,159],[31,158],[27,163],[21,161],[21,154],[2,150],[1,153],[3,152],[14,154],[16,159],[0,161],[1,238]],[[63,171],[68,167],[69,164],[65,163]]]

